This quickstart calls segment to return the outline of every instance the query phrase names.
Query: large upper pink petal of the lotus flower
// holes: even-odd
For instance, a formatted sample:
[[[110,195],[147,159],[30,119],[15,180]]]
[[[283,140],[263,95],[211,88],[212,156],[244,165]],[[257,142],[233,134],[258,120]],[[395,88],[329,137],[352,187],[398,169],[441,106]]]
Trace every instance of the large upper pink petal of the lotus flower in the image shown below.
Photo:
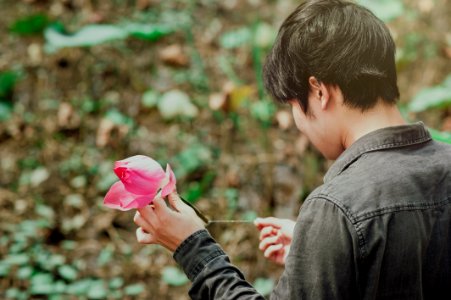
[[[156,194],[166,174],[158,162],[144,155],[135,155],[114,164],[114,173],[125,189],[136,195]]]

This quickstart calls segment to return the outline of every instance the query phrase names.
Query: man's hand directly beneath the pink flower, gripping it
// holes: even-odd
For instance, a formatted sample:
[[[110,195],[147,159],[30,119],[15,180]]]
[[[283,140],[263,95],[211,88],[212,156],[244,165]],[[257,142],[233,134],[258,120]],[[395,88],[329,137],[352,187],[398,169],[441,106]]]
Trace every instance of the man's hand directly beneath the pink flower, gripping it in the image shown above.
[[[176,192],[163,198],[155,197],[153,205],[138,209],[133,221],[139,228],[136,238],[141,244],[159,244],[174,252],[191,234],[205,228],[194,210],[183,203]]]

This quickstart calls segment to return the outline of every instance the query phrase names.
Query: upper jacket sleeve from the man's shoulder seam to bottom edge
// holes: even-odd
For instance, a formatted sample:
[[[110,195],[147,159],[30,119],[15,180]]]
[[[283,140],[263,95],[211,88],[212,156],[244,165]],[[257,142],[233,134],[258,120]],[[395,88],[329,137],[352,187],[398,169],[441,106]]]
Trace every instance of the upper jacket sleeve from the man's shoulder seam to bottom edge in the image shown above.
[[[358,245],[343,209],[327,199],[307,200],[271,299],[358,299]]]

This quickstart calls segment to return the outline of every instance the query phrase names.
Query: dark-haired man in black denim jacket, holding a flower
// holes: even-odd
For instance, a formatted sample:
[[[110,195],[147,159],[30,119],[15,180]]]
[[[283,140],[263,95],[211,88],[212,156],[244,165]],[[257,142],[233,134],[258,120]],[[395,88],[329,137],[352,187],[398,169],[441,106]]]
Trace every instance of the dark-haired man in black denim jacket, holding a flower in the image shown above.
[[[296,224],[257,219],[285,264],[272,299],[451,299],[451,147],[405,124],[395,45],[367,9],[307,1],[283,23],[265,84],[328,159]],[[174,252],[194,299],[262,299],[176,194],[139,210],[141,243]]]

